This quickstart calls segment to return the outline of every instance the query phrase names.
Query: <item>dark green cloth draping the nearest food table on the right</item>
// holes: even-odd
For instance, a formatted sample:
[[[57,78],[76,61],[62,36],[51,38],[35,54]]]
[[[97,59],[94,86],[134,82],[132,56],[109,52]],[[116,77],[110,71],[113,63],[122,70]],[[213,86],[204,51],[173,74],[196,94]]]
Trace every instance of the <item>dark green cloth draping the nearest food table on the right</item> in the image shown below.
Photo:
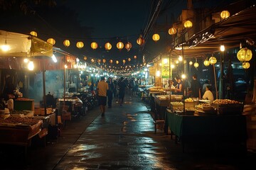
[[[165,123],[183,151],[187,142],[240,143],[246,148],[245,115],[178,115],[166,109]]]

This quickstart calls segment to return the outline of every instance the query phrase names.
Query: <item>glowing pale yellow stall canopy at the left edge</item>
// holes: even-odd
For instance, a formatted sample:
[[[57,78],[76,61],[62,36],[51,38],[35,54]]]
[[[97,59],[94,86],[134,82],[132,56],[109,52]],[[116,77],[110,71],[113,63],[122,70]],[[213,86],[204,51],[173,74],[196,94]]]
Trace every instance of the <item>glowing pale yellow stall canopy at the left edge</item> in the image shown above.
[[[31,35],[0,30],[0,47],[8,45],[9,50],[0,50],[1,57],[53,56],[53,45]]]

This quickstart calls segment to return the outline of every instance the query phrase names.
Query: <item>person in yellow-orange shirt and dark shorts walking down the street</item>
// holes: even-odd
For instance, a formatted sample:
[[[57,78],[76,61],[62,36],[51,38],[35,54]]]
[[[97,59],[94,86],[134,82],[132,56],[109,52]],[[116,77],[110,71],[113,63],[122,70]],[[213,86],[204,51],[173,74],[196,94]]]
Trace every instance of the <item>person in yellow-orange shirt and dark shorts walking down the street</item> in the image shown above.
[[[107,105],[107,90],[108,84],[105,81],[105,77],[101,77],[99,83],[97,84],[98,102],[100,105],[100,111],[102,116],[105,115],[106,105]]]

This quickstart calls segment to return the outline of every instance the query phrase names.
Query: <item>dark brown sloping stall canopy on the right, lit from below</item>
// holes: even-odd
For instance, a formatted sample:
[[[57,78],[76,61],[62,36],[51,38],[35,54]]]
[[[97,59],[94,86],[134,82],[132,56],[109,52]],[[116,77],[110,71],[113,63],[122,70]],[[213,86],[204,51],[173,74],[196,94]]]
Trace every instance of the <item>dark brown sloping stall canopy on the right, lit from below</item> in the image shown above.
[[[227,49],[239,47],[242,41],[255,45],[255,30],[256,6],[251,6],[188,38],[186,43],[183,44],[184,57],[201,57],[212,52],[219,52],[222,44]],[[203,40],[203,38],[210,35],[212,37],[208,38],[208,40]],[[180,42],[182,43],[181,39]],[[173,52],[179,54],[180,50],[174,49]]]

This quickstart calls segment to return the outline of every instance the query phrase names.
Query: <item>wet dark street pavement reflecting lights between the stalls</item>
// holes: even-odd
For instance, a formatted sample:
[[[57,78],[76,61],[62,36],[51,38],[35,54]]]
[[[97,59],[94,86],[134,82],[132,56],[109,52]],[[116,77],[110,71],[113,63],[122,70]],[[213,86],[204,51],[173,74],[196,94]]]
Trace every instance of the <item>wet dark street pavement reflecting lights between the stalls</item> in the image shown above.
[[[138,97],[114,103],[104,117],[94,108],[68,122],[57,140],[22,149],[1,146],[0,169],[256,169],[255,153],[241,154],[230,145],[181,144],[154,132],[150,108]],[[4,152],[7,151],[8,152]]]

